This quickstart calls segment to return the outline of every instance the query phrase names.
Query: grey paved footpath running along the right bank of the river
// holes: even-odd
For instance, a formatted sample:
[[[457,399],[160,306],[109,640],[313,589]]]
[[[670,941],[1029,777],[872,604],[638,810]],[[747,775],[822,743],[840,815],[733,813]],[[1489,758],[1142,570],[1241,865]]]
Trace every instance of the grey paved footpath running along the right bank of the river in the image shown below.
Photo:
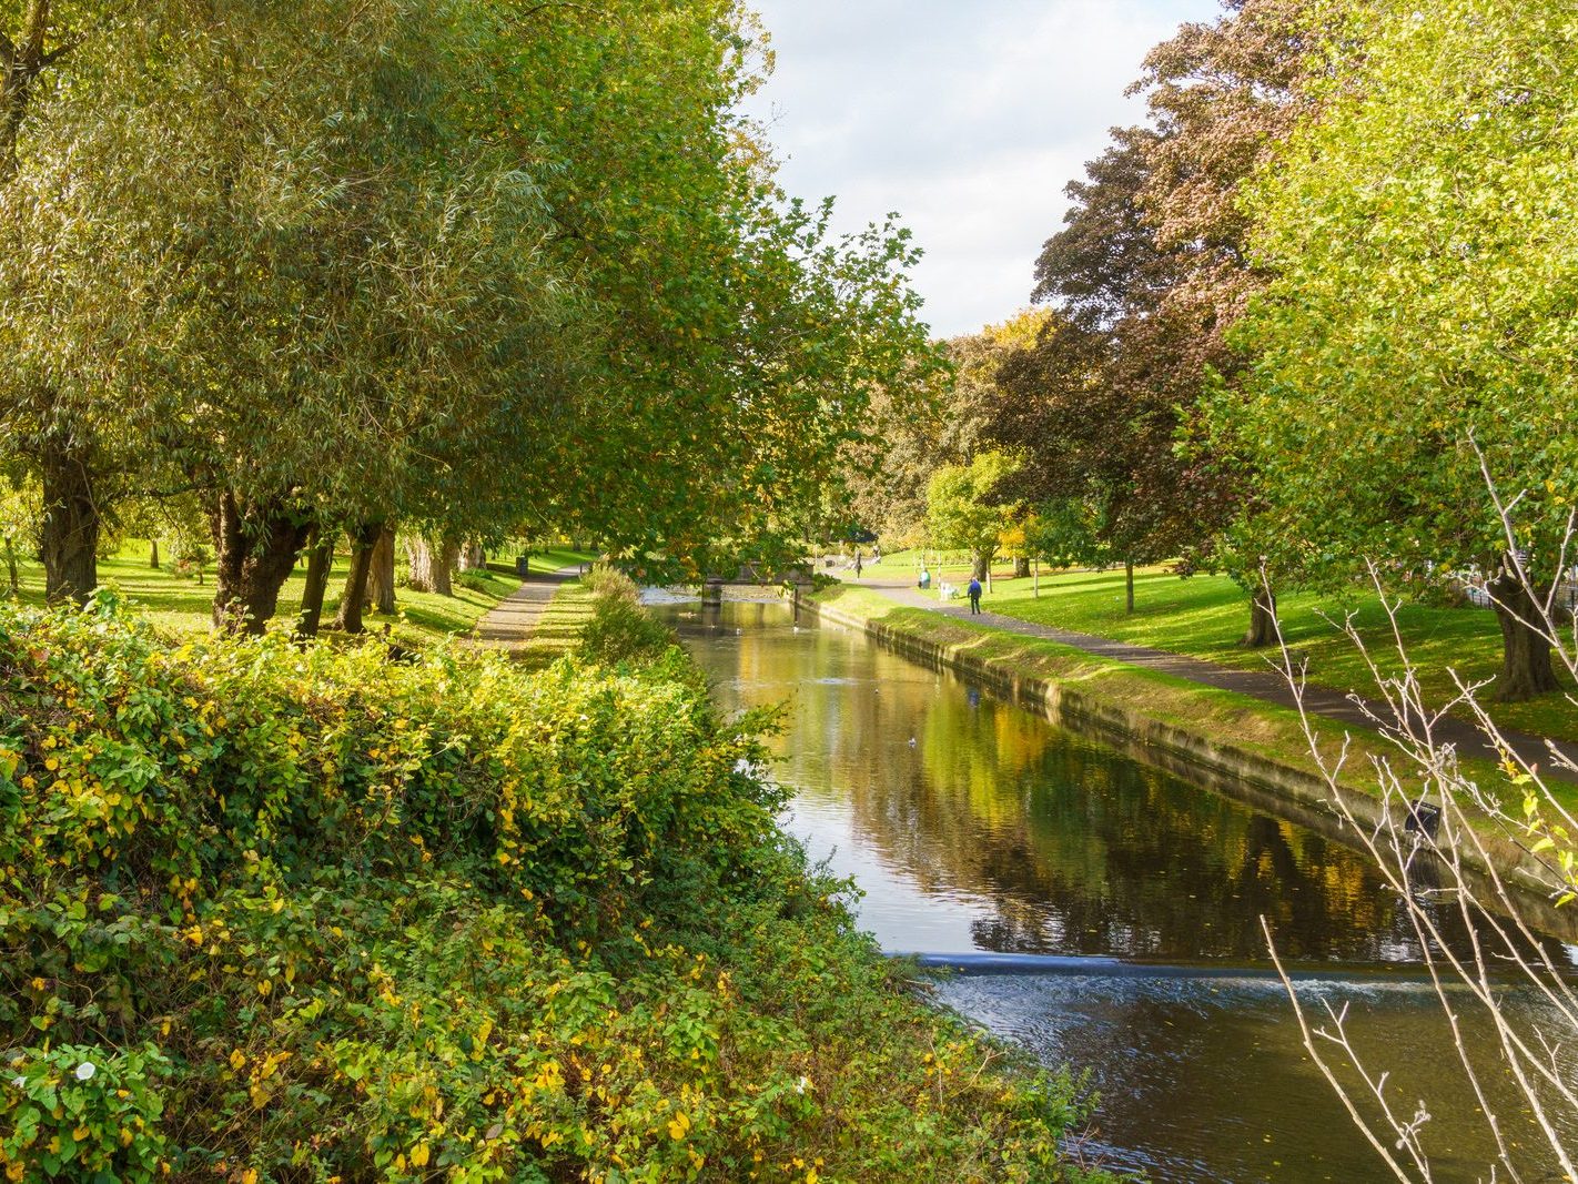
[[[1182,654],[1168,654],[1160,649],[1131,646],[1125,641],[1112,641],[1111,638],[1097,638],[1089,633],[1073,633],[1070,630],[1053,628],[1049,625],[1035,625],[1029,620],[1005,617],[1000,613],[989,613],[983,609],[980,614],[972,616],[967,601],[942,601],[937,598],[936,592],[922,592],[912,581],[896,581],[892,578],[851,579],[851,576],[852,573],[844,573],[843,579],[881,592],[906,608],[923,608],[944,617],[969,619],[978,625],[993,625],[994,628],[1000,628],[1008,633],[1018,633],[1027,638],[1045,638],[1064,646],[1083,649],[1084,652],[1095,654],[1097,657],[1112,658],[1114,661],[1127,661],[1130,666],[1142,666],[1146,669],[1161,671],[1163,674],[1187,679],[1188,682],[1199,682],[1206,687],[1218,687],[1221,690],[1250,695],[1256,699],[1266,699],[1267,703],[1275,703],[1283,707],[1297,707],[1288,680],[1270,666],[1264,671],[1232,669],[1229,666],[1218,666],[1217,663],[1206,661],[1202,658],[1188,658]],[[1319,715],[1326,720],[1333,720],[1352,728],[1376,728],[1374,721],[1365,714],[1365,709],[1382,720],[1393,718],[1392,710],[1384,703],[1376,703],[1374,699],[1356,701],[1356,696],[1324,690],[1321,687],[1305,688],[1303,706],[1311,715]],[[1431,734],[1438,744],[1450,744],[1456,747],[1460,753],[1480,756],[1496,755],[1479,728],[1461,720],[1439,720],[1431,728]],[[1570,774],[1565,769],[1551,766],[1551,751],[1548,747],[1550,740],[1539,736],[1528,736],[1524,733],[1502,733],[1502,737],[1512,745],[1518,756],[1531,764],[1539,764],[1546,775],[1562,781],[1578,781],[1578,774]],[[1578,764],[1578,744],[1564,742],[1557,745],[1557,750]]]

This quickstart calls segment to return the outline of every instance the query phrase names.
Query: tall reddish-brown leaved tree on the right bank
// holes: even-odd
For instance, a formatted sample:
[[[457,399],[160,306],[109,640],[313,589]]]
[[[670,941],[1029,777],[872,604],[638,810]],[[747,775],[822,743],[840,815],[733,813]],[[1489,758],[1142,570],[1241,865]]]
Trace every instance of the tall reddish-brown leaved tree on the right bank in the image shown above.
[[[1146,60],[1152,122],[1114,131],[1067,193],[1034,297],[1059,319],[1000,373],[988,431],[1030,455],[1021,488],[1062,549],[1154,560],[1188,554],[1253,592],[1251,644],[1272,639],[1259,551],[1226,530],[1255,505],[1242,455],[1202,447],[1195,407],[1242,365],[1225,330],[1262,278],[1250,265],[1242,182],[1286,136],[1303,63],[1300,0],[1234,0]],[[1180,451],[1184,436],[1195,445]]]

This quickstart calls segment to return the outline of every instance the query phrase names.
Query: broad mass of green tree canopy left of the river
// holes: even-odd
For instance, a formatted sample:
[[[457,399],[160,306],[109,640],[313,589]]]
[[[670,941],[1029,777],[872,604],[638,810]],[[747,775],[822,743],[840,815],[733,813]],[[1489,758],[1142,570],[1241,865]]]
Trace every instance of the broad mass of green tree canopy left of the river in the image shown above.
[[[907,235],[836,240],[734,114],[732,3],[63,11],[30,9],[71,52],[8,107],[0,186],[0,423],[52,594],[117,500],[186,489],[216,620],[254,628],[314,527],[773,554],[926,365]]]

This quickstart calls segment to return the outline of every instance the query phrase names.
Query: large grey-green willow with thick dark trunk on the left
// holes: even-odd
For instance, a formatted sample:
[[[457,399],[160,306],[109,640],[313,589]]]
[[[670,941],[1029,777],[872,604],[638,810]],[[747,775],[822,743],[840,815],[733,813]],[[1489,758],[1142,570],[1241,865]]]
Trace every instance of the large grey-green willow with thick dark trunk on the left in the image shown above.
[[[260,628],[316,519],[398,510],[445,445],[508,453],[499,404],[552,390],[562,350],[535,344],[567,302],[533,265],[541,205],[464,118],[497,84],[472,51],[486,16],[139,8],[32,120],[8,332],[50,395],[35,451],[66,425],[205,489],[216,624]]]

